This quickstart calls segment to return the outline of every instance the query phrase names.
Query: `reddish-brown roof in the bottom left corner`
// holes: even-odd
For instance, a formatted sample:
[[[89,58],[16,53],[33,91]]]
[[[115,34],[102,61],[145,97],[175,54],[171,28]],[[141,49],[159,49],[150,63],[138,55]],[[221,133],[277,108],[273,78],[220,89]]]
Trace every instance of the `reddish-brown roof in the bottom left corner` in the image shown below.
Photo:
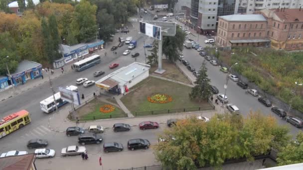
[[[0,170],[30,170],[34,154],[0,158]]]

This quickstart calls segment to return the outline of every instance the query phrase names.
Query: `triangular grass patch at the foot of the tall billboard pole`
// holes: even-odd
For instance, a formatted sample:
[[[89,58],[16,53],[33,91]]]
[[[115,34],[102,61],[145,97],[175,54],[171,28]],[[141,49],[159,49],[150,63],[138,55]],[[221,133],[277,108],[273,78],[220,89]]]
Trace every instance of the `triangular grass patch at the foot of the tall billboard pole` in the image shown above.
[[[164,77],[164,78],[171,79],[171,80],[175,80],[175,81],[179,81],[179,82],[183,82],[186,84],[191,84],[191,82],[186,78],[186,76],[184,76],[180,72],[180,70],[177,68],[177,66],[174,63],[170,63],[168,60],[162,60],[162,69],[165,70],[165,72],[162,75],[153,73],[157,69],[158,69],[158,65],[152,66],[150,69],[150,74]]]

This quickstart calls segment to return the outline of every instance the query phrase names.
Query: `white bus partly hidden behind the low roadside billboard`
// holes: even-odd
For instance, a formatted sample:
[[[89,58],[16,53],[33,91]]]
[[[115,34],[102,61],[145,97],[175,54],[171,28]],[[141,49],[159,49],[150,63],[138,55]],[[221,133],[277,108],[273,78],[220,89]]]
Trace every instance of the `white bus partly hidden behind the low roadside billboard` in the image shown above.
[[[78,92],[78,87],[75,85],[67,86],[66,89]],[[56,99],[58,108],[67,103],[67,101],[61,99],[60,92],[55,93],[55,99]],[[50,112],[56,110],[54,96],[51,95],[51,96],[47,97],[46,99],[40,101],[40,108],[45,113],[50,113]]]

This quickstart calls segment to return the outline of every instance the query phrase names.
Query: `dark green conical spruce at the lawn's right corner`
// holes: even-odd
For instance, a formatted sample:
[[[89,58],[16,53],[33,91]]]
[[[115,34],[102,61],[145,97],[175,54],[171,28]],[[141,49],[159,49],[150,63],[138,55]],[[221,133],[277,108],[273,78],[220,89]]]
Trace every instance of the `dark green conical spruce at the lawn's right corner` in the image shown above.
[[[203,60],[202,66],[199,70],[199,77],[194,82],[196,85],[191,88],[189,97],[191,99],[207,100],[211,96],[210,79],[208,79],[206,61]]]

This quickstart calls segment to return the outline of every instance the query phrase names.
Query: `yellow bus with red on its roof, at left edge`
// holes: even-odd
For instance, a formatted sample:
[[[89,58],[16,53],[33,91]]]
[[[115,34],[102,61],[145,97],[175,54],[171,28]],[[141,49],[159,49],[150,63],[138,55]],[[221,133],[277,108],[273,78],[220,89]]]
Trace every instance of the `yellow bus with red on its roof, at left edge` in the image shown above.
[[[30,123],[30,115],[26,110],[12,113],[0,120],[0,138]]]

